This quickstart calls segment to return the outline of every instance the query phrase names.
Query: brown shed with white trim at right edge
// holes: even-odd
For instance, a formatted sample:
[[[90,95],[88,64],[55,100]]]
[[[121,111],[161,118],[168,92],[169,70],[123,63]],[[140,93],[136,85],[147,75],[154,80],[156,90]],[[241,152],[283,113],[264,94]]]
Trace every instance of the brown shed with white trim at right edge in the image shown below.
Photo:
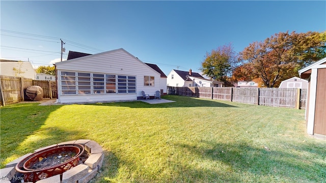
[[[308,79],[307,133],[326,140],[326,57],[298,73]]]

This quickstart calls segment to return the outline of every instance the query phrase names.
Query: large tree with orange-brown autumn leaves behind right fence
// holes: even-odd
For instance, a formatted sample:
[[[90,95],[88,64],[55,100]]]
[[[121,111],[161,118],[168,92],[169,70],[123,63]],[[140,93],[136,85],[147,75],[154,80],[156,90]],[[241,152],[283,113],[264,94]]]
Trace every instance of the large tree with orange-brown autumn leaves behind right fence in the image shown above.
[[[282,80],[297,76],[302,67],[326,56],[325,38],[326,32],[278,33],[250,44],[240,57],[247,74],[260,78],[265,87],[277,87]]]

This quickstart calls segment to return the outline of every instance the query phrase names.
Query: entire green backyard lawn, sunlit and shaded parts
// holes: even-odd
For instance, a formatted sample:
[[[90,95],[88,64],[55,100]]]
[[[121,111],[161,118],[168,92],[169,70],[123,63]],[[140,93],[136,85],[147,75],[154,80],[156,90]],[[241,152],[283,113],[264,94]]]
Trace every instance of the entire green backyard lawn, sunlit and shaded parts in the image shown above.
[[[326,141],[304,110],[164,96],[86,105],[1,108],[1,168],[47,145],[92,139],[104,150],[93,182],[326,182]]]

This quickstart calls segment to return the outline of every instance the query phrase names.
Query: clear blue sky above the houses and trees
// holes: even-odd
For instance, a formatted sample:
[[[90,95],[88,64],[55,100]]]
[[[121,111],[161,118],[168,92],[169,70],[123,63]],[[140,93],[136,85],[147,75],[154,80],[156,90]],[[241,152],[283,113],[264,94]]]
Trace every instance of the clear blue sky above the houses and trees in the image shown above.
[[[124,48],[143,62],[200,72],[206,52],[236,52],[280,32],[326,31],[326,1],[1,1],[1,58],[51,66],[69,50]]]

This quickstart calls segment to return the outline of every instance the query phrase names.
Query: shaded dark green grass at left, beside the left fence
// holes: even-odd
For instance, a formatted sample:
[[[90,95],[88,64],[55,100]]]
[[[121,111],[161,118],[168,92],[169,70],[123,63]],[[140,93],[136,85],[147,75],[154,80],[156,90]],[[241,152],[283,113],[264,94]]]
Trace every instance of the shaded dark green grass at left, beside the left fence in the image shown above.
[[[38,103],[13,104],[1,107],[0,152],[2,168],[6,164],[5,160],[13,156],[17,152],[16,149],[44,125],[50,113],[60,107],[60,105],[38,106]],[[19,152],[26,153],[28,148],[21,148],[23,151],[20,150]]]

